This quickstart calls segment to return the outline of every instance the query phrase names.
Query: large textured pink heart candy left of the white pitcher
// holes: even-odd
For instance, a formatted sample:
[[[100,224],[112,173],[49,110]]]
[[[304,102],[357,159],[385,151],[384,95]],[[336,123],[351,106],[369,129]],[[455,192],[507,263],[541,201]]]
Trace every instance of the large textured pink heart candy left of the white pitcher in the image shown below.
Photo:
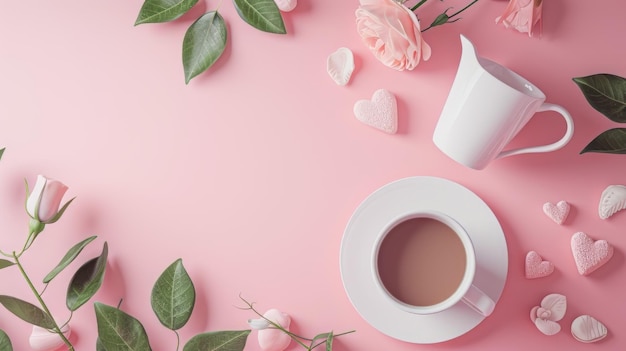
[[[354,104],[354,115],[359,121],[395,134],[398,130],[398,106],[396,97],[385,89],[379,89],[372,100],[359,100]]]

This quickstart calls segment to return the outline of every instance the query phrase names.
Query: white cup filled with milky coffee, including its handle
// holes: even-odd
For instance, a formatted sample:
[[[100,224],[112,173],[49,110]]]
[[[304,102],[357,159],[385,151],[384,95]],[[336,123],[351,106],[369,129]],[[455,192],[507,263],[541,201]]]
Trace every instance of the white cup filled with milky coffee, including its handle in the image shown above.
[[[495,302],[474,285],[476,253],[467,231],[437,211],[410,213],[392,221],[372,252],[374,281],[397,308],[420,315],[459,302],[489,316]]]

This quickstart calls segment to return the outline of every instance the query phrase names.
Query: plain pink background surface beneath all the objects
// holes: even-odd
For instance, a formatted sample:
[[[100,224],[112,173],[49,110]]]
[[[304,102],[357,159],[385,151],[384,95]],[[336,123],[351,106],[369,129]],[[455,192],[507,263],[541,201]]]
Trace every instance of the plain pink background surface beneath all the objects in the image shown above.
[[[425,33],[430,61],[414,71],[384,67],[365,48],[352,1],[300,0],[284,15],[289,34],[261,33],[245,24],[230,1],[200,2],[173,23],[133,23],[142,1],[3,1],[0,13],[0,248],[17,249],[26,235],[23,179],[37,174],[65,182],[77,196],[24,256],[40,281],[63,253],[87,235],[99,239],[56,278],[45,298],[66,317],[65,289],[79,263],[110,246],[105,283],[73,318],[78,350],[96,339],[93,301],[116,305],[142,321],[155,350],[174,350],[175,336],[153,315],[152,284],[175,259],[195,282],[196,310],[180,332],[185,342],[209,330],[244,329],[253,315],[236,308],[238,295],[260,310],[278,308],[305,336],[334,330],[336,350],[583,350],[569,333],[590,314],[609,336],[594,349],[626,344],[626,214],[602,220],[598,201],[611,184],[625,184],[626,156],[579,151],[617,126],[593,110],[572,77],[626,76],[626,5],[622,0],[550,0],[544,32],[528,38],[494,24],[505,1],[480,1],[457,23]],[[433,1],[429,6],[463,2]],[[200,14],[219,11],[228,47],[207,73],[184,84],[182,38]],[[565,148],[467,169],[443,155],[432,132],[460,57],[459,34],[482,56],[539,86],[573,115],[576,131]],[[337,48],[353,50],[348,86],[326,73]],[[380,88],[395,94],[399,132],[384,134],[358,122],[357,100]],[[480,128],[479,125],[476,128]],[[533,120],[512,143],[558,138],[554,113]],[[492,316],[474,330],[435,345],[383,335],[352,307],[339,273],[339,245],[352,212],[382,185],[414,175],[454,180],[493,209],[506,235],[509,274]],[[565,200],[563,225],[542,212]],[[591,276],[580,276],[570,237],[584,231],[606,239],[615,255]],[[96,244],[97,243],[97,244]],[[529,250],[556,272],[524,278]],[[33,301],[17,270],[0,271],[0,294]],[[529,311],[549,293],[568,298],[563,330],[541,334]],[[394,323],[394,321],[389,321]],[[0,310],[0,329],[17,350],[28,348],[30,326]],[[253,333],[246,347],[258,350]],[[292,344],[291,349],[298,349]]]

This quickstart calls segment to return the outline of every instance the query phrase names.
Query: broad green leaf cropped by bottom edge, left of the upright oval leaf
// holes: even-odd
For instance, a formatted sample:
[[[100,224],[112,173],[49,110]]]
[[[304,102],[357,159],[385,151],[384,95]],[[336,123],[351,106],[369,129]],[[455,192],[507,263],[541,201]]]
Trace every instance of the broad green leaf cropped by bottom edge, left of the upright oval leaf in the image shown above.
[[[152,350],[146,330],[135,317],[100,302],[94,303],[94,308],[98,324],[98,340],[104,350]]]

